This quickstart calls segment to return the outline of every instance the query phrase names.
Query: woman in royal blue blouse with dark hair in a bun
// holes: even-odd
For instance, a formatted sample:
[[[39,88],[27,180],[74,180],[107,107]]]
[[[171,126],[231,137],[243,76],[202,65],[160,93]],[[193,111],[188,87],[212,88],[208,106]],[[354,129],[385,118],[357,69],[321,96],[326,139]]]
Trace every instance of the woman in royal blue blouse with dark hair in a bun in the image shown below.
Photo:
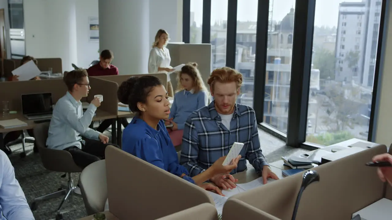
[[[220,173],[230,173],[237,167],[241,156],[233,159],[228,166],[222,165],[225,157],[221,157],[200,175],[189,177],[188,170],[178,162],[177,152],[165,128],[163,120],[169,117],[170,107],[167,91],[158,78],[129,78],[118,88],[118,100],[128,103],[129,110],[137,113],[123,130],[122,150],[204,189],[212,189],[221,194],[219,188],[203,182]]]

